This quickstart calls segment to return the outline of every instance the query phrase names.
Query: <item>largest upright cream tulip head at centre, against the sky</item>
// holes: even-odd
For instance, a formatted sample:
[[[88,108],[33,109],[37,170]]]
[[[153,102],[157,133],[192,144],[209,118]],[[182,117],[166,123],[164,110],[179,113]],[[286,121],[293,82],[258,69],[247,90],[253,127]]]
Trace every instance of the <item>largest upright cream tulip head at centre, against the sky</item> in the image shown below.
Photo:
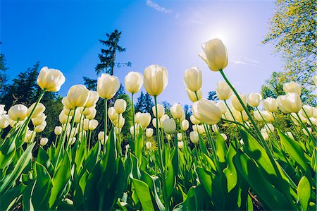
[[[163,66],[152,64],[144,70],[144,88],[151,96],[159,96],[168,85],[168,72]]]

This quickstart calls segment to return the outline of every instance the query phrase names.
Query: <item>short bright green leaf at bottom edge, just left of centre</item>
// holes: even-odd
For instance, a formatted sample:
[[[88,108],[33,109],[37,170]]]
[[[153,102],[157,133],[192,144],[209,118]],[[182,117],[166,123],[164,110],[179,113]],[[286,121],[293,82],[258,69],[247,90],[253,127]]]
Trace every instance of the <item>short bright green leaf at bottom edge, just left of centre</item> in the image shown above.
[[[149,191],[149,186],[144,181],[139,179],[134,179],[131,177],[133,186],[135,187],[135,192],[137,193],[137,198],[142,205],[142,210],[154,210],[154,206],[151,199],[151,193]]]

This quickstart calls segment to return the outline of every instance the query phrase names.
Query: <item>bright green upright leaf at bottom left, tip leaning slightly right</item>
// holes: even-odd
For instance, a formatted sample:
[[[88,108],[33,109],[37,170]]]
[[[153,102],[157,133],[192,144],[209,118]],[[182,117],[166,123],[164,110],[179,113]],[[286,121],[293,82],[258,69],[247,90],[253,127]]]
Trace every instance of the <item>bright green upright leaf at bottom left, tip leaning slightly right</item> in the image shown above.
[[[50,209],[54,209],[61,202],[63,190],[70,179],[70,170],[70,158],[68,152],[66,152],[61,163],[58,164],[58,168],[52,179],[51,196],[49,198]]]

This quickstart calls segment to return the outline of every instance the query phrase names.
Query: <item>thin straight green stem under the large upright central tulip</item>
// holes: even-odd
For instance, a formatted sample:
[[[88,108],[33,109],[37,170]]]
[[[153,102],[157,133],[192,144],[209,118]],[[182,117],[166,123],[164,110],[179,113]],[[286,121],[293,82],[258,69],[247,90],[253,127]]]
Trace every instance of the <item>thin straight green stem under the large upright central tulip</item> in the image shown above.
[[[154,95],[155,114],[158,114],[156,97],[157,96]],[[161,162],[159,167],[161,168],[160,170],[161,170],[161,174],[162,174],[163,198],[164,198],[164,203],[165,203],[166,210],[169,210],[169,208],[168,208],[169,207],[169,202],[168,202],[168,198],[167,198],[167,195],[166,195],[165,171],[164,171],[164,168],[163,168],[162,143],[161,143],[161,138],[160,138],[160,133],[159,133],[159,118],[157,118],[157,117],[156,117],[156,137],[157,137],[157,140],[159,141],[159,155],[160,155],[160,162]]]

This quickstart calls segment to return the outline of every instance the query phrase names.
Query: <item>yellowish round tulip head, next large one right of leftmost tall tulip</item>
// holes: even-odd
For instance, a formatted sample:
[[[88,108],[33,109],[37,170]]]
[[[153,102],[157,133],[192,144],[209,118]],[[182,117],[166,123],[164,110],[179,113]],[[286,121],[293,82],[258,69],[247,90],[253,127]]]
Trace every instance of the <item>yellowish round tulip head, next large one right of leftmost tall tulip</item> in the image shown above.
[[[83,107],[89,96],[89,90],[85,85],[73,85],[67,93],[67,100],[74,107]]]

